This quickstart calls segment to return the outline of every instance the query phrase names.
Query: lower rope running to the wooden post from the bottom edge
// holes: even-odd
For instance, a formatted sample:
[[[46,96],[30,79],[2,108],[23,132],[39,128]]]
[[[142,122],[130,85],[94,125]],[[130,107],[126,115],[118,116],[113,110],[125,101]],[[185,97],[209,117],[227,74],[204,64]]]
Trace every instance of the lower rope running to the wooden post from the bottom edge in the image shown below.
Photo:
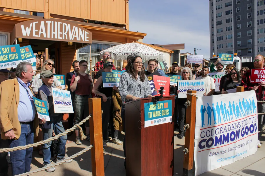
[[[79,156],[79,155],[85,153],[86,151],[90,150],[91,148],[93,148],[93,145],[88,146],[88,147],[85,148],[84,150],[82,150],[82,151],[80,151],[80,152],[78,152],[78,153],[76,153],[76,154],[74,154],[74,155],[72,155],[72,156],[70,156],[70,157],[68,157],[68,158],[66,158],[66,159],[64,159],[64,160],[62,160],[62,161],[59,161],[58,163],[48,164],[48,165],[46,165],[45,167],[39,168],[39,169],[37,169],[37,170],[29,171],[29,172],[26,172],[26,173],[23,173],[23,174],[19,174],[19,175],[16,175],[16,176],[27,176],[27,175],[32,175],[32,174],[36,174],[36,173],[38,173],[38,172],[42,172],[42,171],[44,171],[44,170],[46,170],[46,169],[50,169],[50,168],[52,168],[52,167],[55,167],[55,166],[61,165],[62,163],[65,163],[66,161],[69,161],[69,160],[71,160],[71,159],[74,159],[74,158],[76,158],[77,156]]]

